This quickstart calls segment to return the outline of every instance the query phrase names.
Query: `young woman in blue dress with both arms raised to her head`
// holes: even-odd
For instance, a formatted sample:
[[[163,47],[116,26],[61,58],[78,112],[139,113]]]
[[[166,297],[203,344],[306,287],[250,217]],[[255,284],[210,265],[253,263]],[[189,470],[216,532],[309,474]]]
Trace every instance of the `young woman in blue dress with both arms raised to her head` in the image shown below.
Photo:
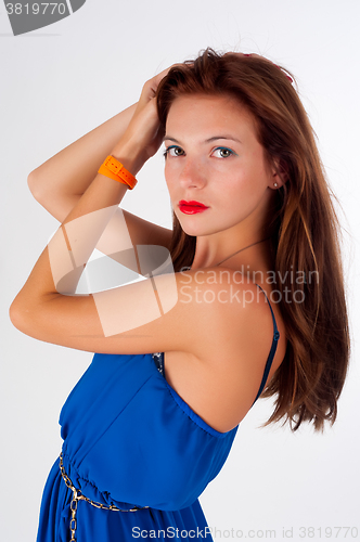
[[[118,207],[163,141],[172,231]],[[210,539],[197,498],[255,400],[319,430],[346,376],[338,224],[292,77],[207,49],[29,186],[62,224],[12,322],[99,352],[61,413],[38,541]],[[94,247],[146,279],[75,295]]]

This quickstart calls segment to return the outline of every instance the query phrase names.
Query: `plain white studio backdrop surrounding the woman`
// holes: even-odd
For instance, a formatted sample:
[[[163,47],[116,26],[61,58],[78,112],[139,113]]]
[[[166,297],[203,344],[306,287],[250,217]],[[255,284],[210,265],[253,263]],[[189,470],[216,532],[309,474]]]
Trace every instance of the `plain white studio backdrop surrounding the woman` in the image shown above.
[[[231,529],[234,538],[254,529],[256,540],[266,539],[274,529],[275,540],[320,541],[326,527],[358,527],[360,540],[359,21],[357,0],[88,0],[74,15],[14,37],[1,4],[2,540],[35,540],[43,485],[61,449],[59,412],[92,358],[27,337],[9,320],[12,299],[57,227],[33,198],[27,176],[136,102],[147,78],[208,46],[263,54],[297,78],[342,204],[352,354],[333,428],[259,429],[271,402],[258,401],[201,502],[216,540],[231,538]],[[145,165],[124,207],[170,228],[162,160]],[[299,527],[316,528],[314,535],[301,537]],[[353,537],[343,529],[336,540]]]

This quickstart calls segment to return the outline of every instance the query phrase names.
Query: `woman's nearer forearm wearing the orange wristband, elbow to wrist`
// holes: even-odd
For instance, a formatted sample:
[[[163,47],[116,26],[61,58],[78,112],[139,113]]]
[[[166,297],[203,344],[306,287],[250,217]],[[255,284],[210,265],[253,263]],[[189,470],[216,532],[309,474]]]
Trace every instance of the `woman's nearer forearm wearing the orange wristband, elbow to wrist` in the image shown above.
[[[118,146],[111,151],[133,172],[142,166],[141,153],[134,146],[120,144],[120,151]],[[95,175],[14,299],[11,311],[15,318],[31,315],[49,296],[75,294],[83,267],[127,190],[121,182]]]

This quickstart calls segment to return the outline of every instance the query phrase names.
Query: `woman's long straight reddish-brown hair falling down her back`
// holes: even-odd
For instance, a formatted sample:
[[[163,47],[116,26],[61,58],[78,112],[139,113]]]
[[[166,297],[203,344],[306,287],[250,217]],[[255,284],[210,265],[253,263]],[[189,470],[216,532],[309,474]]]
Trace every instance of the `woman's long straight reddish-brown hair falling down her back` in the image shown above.
[[[296,430],[303,422],[312,422],[320,430],[326,420],[335,422],[350,340],[335,196],[292,79],[261,56],[206,49],[196,60],[169,70],[157,90],[157,109],[165,128],[177,96],[235,98],[253,114],[269,164],[286,176],[277,191],[269,232],[288,341],[285,358],[261,396],[275,396],[274,411],[265,425],[283,420]],[[195,247],[196,237],[184,233],[173,214],[170,253],[176,271],[191,266]],[[286,302],[288,297],[295,302]]]

